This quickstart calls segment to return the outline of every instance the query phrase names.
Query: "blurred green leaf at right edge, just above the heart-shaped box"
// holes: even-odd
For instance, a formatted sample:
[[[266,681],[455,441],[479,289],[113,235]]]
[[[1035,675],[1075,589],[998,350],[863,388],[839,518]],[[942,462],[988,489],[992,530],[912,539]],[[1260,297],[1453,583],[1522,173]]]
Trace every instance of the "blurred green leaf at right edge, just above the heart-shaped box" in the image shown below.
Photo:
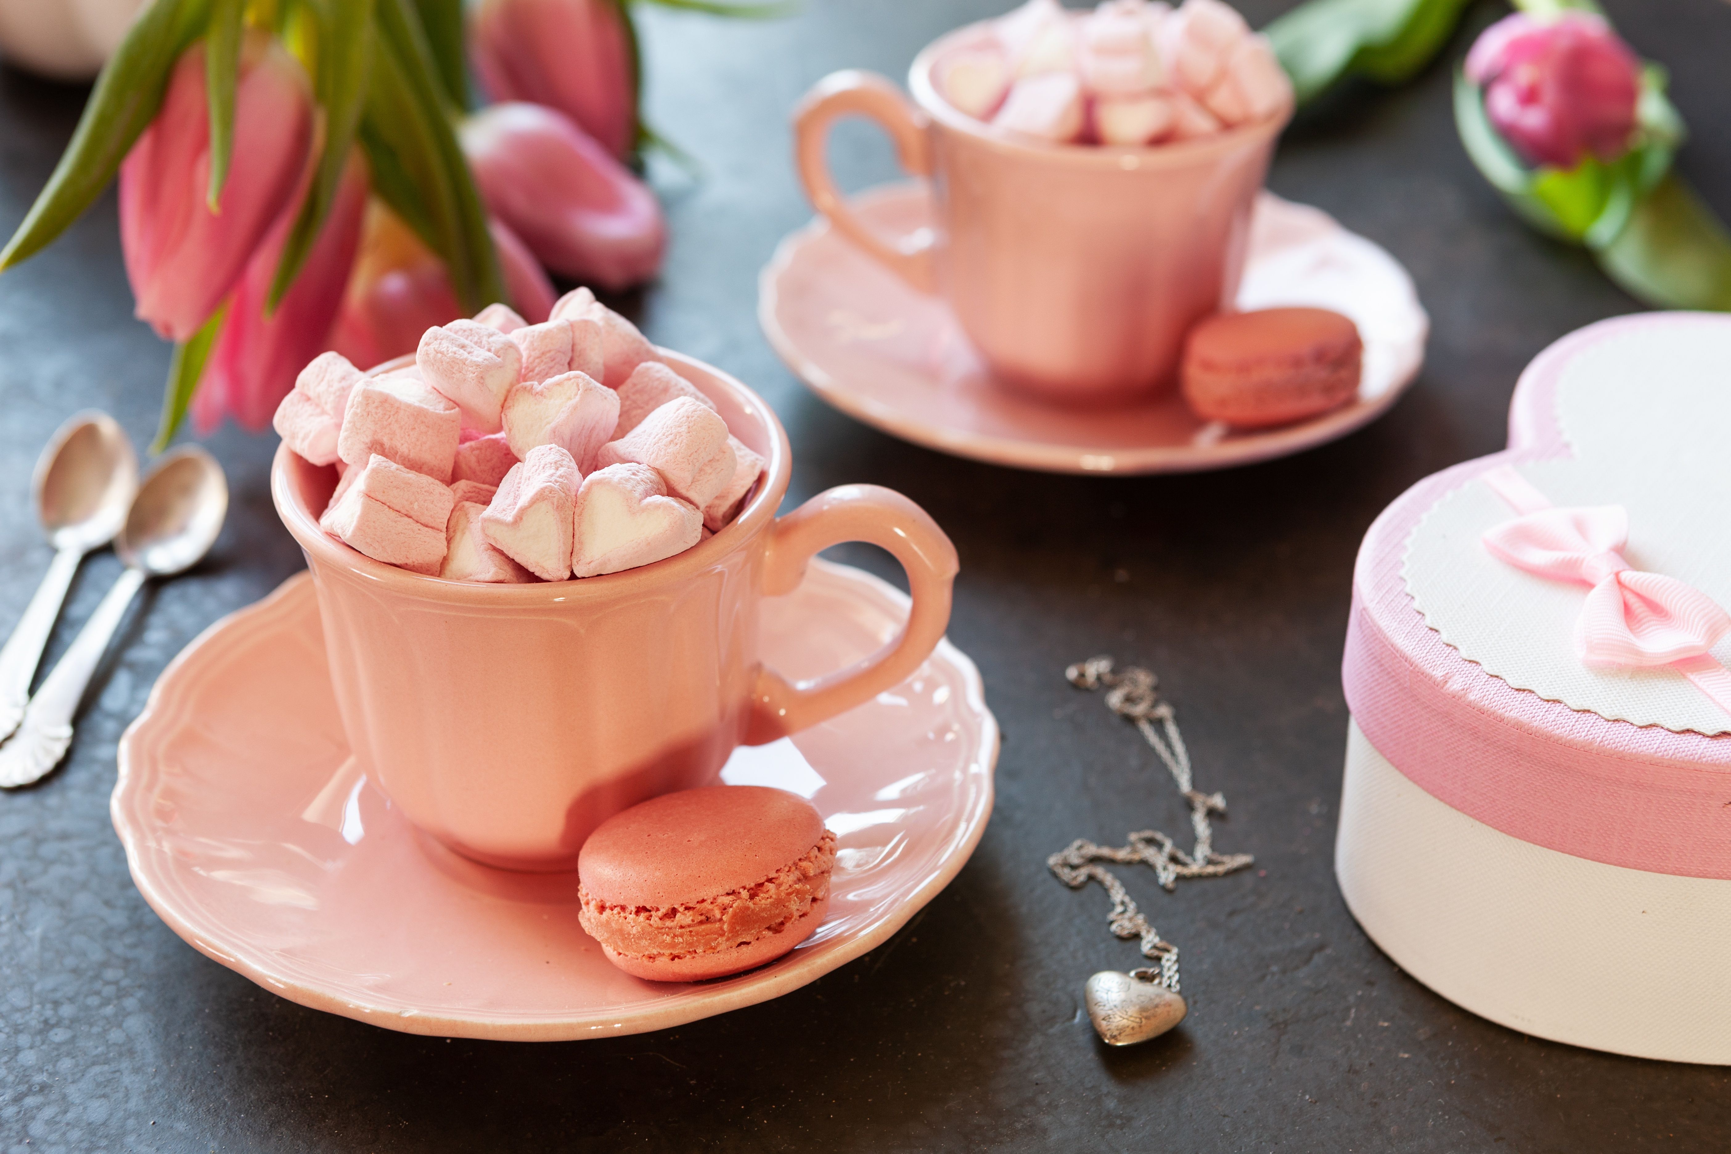
[[[1634,206],[1594,256],[1612,280],[1648,305],[1731,311],[1731,232],[1676,173]]]

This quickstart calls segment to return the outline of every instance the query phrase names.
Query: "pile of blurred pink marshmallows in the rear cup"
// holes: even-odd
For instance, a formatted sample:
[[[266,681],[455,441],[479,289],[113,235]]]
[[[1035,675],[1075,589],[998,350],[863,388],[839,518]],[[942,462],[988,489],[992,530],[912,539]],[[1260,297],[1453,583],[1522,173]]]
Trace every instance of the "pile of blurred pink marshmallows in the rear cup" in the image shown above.
[[[990,36],[945,54],[933,83],[956,109],[1054,144],[1149,145],[1260,121],[1291,100],[1269,42],[1220,0],[1028,0]]]

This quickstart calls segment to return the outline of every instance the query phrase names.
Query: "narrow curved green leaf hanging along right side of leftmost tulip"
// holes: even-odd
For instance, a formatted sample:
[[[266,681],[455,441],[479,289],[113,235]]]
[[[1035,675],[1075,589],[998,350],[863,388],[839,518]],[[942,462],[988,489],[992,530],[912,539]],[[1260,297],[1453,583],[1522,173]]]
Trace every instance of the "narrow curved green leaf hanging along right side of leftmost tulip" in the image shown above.
[[[336,190],[343,182],[343,166],[348,164],[360,128],[367,81],[372,74],[376,40],[372,0],[313,0],[306,5],[306,12],[312,17],[310,35],[317,42],[313,93],[324,109],[324,147],[312,187],[282,246],[277,275],[265,299],[267,317],[282,303],[282,296],[294,284],[331,216],[331,204],[336,202]]]

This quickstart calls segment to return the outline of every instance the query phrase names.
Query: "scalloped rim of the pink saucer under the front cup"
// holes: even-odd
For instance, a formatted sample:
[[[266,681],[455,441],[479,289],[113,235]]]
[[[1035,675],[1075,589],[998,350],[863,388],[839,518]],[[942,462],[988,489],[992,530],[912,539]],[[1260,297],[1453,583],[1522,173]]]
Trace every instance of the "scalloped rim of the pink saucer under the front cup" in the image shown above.
[[[883,578],[843,566],[822,557],[808,562],[812,567],[829,571],[834,576],[857,581],[862,592],[886,599],[898,609],[907,609],[911,599]],[[119,739],[116,761],[118,777],[114,791],[109,794],[109,820],[126,851],[126,869],[133,886],[145,905],[183,941],[204,957],[220,962],[237,974],[263,986],[289,1002],[308,1009],[339,1014],[372,1026],[383,1026],[400,1033],[440,1036],[440,1038],[486,1038],[495,1042],[575,1042],[597,1036],[623,1036],[668,1029],[717,1014],[744,1009],[760,1002],[769,1002],[800,986],[864,957],[888,941],[905,926],[914,914],[923,910],[938,893],[949,886],[962,867],[973,858],[985,827],[992,818],[997,796],[997,760],[1002,751],[1002,735],[997,716],[985,702],[985,682],[973,659],[957,649],[949,637],[938,640],[931,659],[949,663],[961,678],[962,709],[966,716],[976,718],[980,725],[980,770],[969,772],[975,779],[966,798],[966,810],[961,813],[956,830],[950,834],[950,846],[940,858],[936,869],[916,886],[909,896],[886,912],[879,922],[864,929],[857,936],[840,941],[834,948],[812,955],[796,950],[793,955],[770,962],[753,974],[732,979],[725,988],[705,991],[698,986],[694,997],[670,995],[663,1003],[649,1003],[647,1009],[613,1010],[599,1014],[530,1014],[530,1016],[490,1016],[490,1014],[448,1014],[400,1010],[388,1005],[357,1002],[341,995],[319,990],[298,976],[275,969],[265,952],[251,948],[225,948],[222,945],[222,927],[208,926],[209,919],[199,919],[182,912],[168,893],[166,879],[156,875],[154,865],[147,863],[140,843],[144,829],[149,825],[142,805],[145,801],[147,763],[154,730],[164,728],[164,735],[185,721],[177,716],[183,706],[171,699],[185,670],[206,654],[218,638],[230,637],[235,630],[265,630],[279,618],[298,611],[296,599],[315,597],[312,574],[301,571],[289,576],[282,585],[263,599],[225,614],[203,633],[197,635],[173,661],[163,670],[145,701],[144,711],[126,727]],[[230,638],[234,640],[234,638]],[[682,990],[680,993],[685,993]]]

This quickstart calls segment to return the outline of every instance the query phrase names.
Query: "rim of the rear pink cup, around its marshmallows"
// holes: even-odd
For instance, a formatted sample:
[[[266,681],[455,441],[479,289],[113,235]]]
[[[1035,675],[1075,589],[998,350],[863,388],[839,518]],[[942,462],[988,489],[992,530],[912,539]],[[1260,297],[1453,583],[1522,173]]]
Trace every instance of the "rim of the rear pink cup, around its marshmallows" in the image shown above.
[[[1075,168],[1097,168],[1104,171],[1146,171],[1162,168],[1186,168],[1200,161],[1208,161],[1220,152],[1231,152],[1245,145],[1262,144],[1269,137],[1279,135],[1293,116],[1293,99],[1271,116],[1245,125],[1236,125],[1226,131],[1201,137],[1198,140],[1179,140],[1174,144],[1122,145],[1122,144],[1025,144],[1004,133],[992,131],[985,121],[968,116],[938,92],[931,81],[931,67],[938,57],[964,43],[988,35],[992,21],[975,21],[950,29],[928,43],[914,57],[907,69],[907,90],[914,102],[942,123],[947,130],[961,133],[976,144],[1020,159],[1039,159],[1049,164],[1070,164]]]

